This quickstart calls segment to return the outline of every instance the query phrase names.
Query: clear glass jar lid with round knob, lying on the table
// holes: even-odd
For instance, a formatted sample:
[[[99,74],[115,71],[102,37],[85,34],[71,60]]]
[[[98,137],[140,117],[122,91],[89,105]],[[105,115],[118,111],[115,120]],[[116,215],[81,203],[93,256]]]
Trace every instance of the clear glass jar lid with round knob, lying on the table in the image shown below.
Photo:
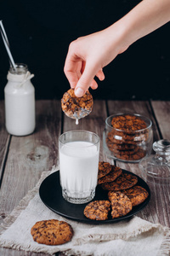
[[[170,141],[167,139],[153,143],[156,154],[151,154],[139,162],[142,177],[147,182],[170,182]]]

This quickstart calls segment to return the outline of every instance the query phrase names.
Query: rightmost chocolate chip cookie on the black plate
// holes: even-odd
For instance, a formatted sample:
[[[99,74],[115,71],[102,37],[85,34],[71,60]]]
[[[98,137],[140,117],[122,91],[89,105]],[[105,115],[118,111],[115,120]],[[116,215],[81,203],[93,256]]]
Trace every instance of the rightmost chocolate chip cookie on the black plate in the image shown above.
[[[148,191],[140,186],[134,186],[130,189],[124,189],[122,190],[122,193],[124,195],[127,195],[127,197],[132,202],[133,207],[141,204],[143,201],[146,200],[149,195]]]

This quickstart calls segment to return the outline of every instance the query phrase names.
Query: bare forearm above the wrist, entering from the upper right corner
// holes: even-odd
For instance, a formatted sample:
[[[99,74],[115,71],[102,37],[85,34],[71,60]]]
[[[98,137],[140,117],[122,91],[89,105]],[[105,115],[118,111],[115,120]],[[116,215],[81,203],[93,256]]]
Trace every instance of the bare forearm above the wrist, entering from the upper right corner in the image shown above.
[[[124,46],[128,47],[169,20],[170,0],[143,0],[112,26],[122,30]]]

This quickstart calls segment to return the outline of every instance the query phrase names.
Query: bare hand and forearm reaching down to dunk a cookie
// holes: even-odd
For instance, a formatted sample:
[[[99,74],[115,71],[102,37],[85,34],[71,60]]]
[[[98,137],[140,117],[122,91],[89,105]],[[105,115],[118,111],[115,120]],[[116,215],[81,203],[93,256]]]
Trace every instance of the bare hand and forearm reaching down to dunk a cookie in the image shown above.
[[[82,96],[90,86],[96,89],[98,84],[94,77],[101,81],[105,79],[103,67],[129,45],[169,20],[169,0],[143,0],[105,30],[73,41],[65,60],[64,71],[71,88],[75,88],[76,96]]]

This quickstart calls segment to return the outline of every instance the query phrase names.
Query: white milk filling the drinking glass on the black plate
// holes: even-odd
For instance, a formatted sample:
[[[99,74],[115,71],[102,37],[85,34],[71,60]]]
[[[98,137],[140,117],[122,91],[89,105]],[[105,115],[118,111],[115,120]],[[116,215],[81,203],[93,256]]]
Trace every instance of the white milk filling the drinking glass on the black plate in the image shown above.
[[[59,152],[60,184],[72,198],[86,198],[98,179],[99,150],[93,143],[65,143]]]

